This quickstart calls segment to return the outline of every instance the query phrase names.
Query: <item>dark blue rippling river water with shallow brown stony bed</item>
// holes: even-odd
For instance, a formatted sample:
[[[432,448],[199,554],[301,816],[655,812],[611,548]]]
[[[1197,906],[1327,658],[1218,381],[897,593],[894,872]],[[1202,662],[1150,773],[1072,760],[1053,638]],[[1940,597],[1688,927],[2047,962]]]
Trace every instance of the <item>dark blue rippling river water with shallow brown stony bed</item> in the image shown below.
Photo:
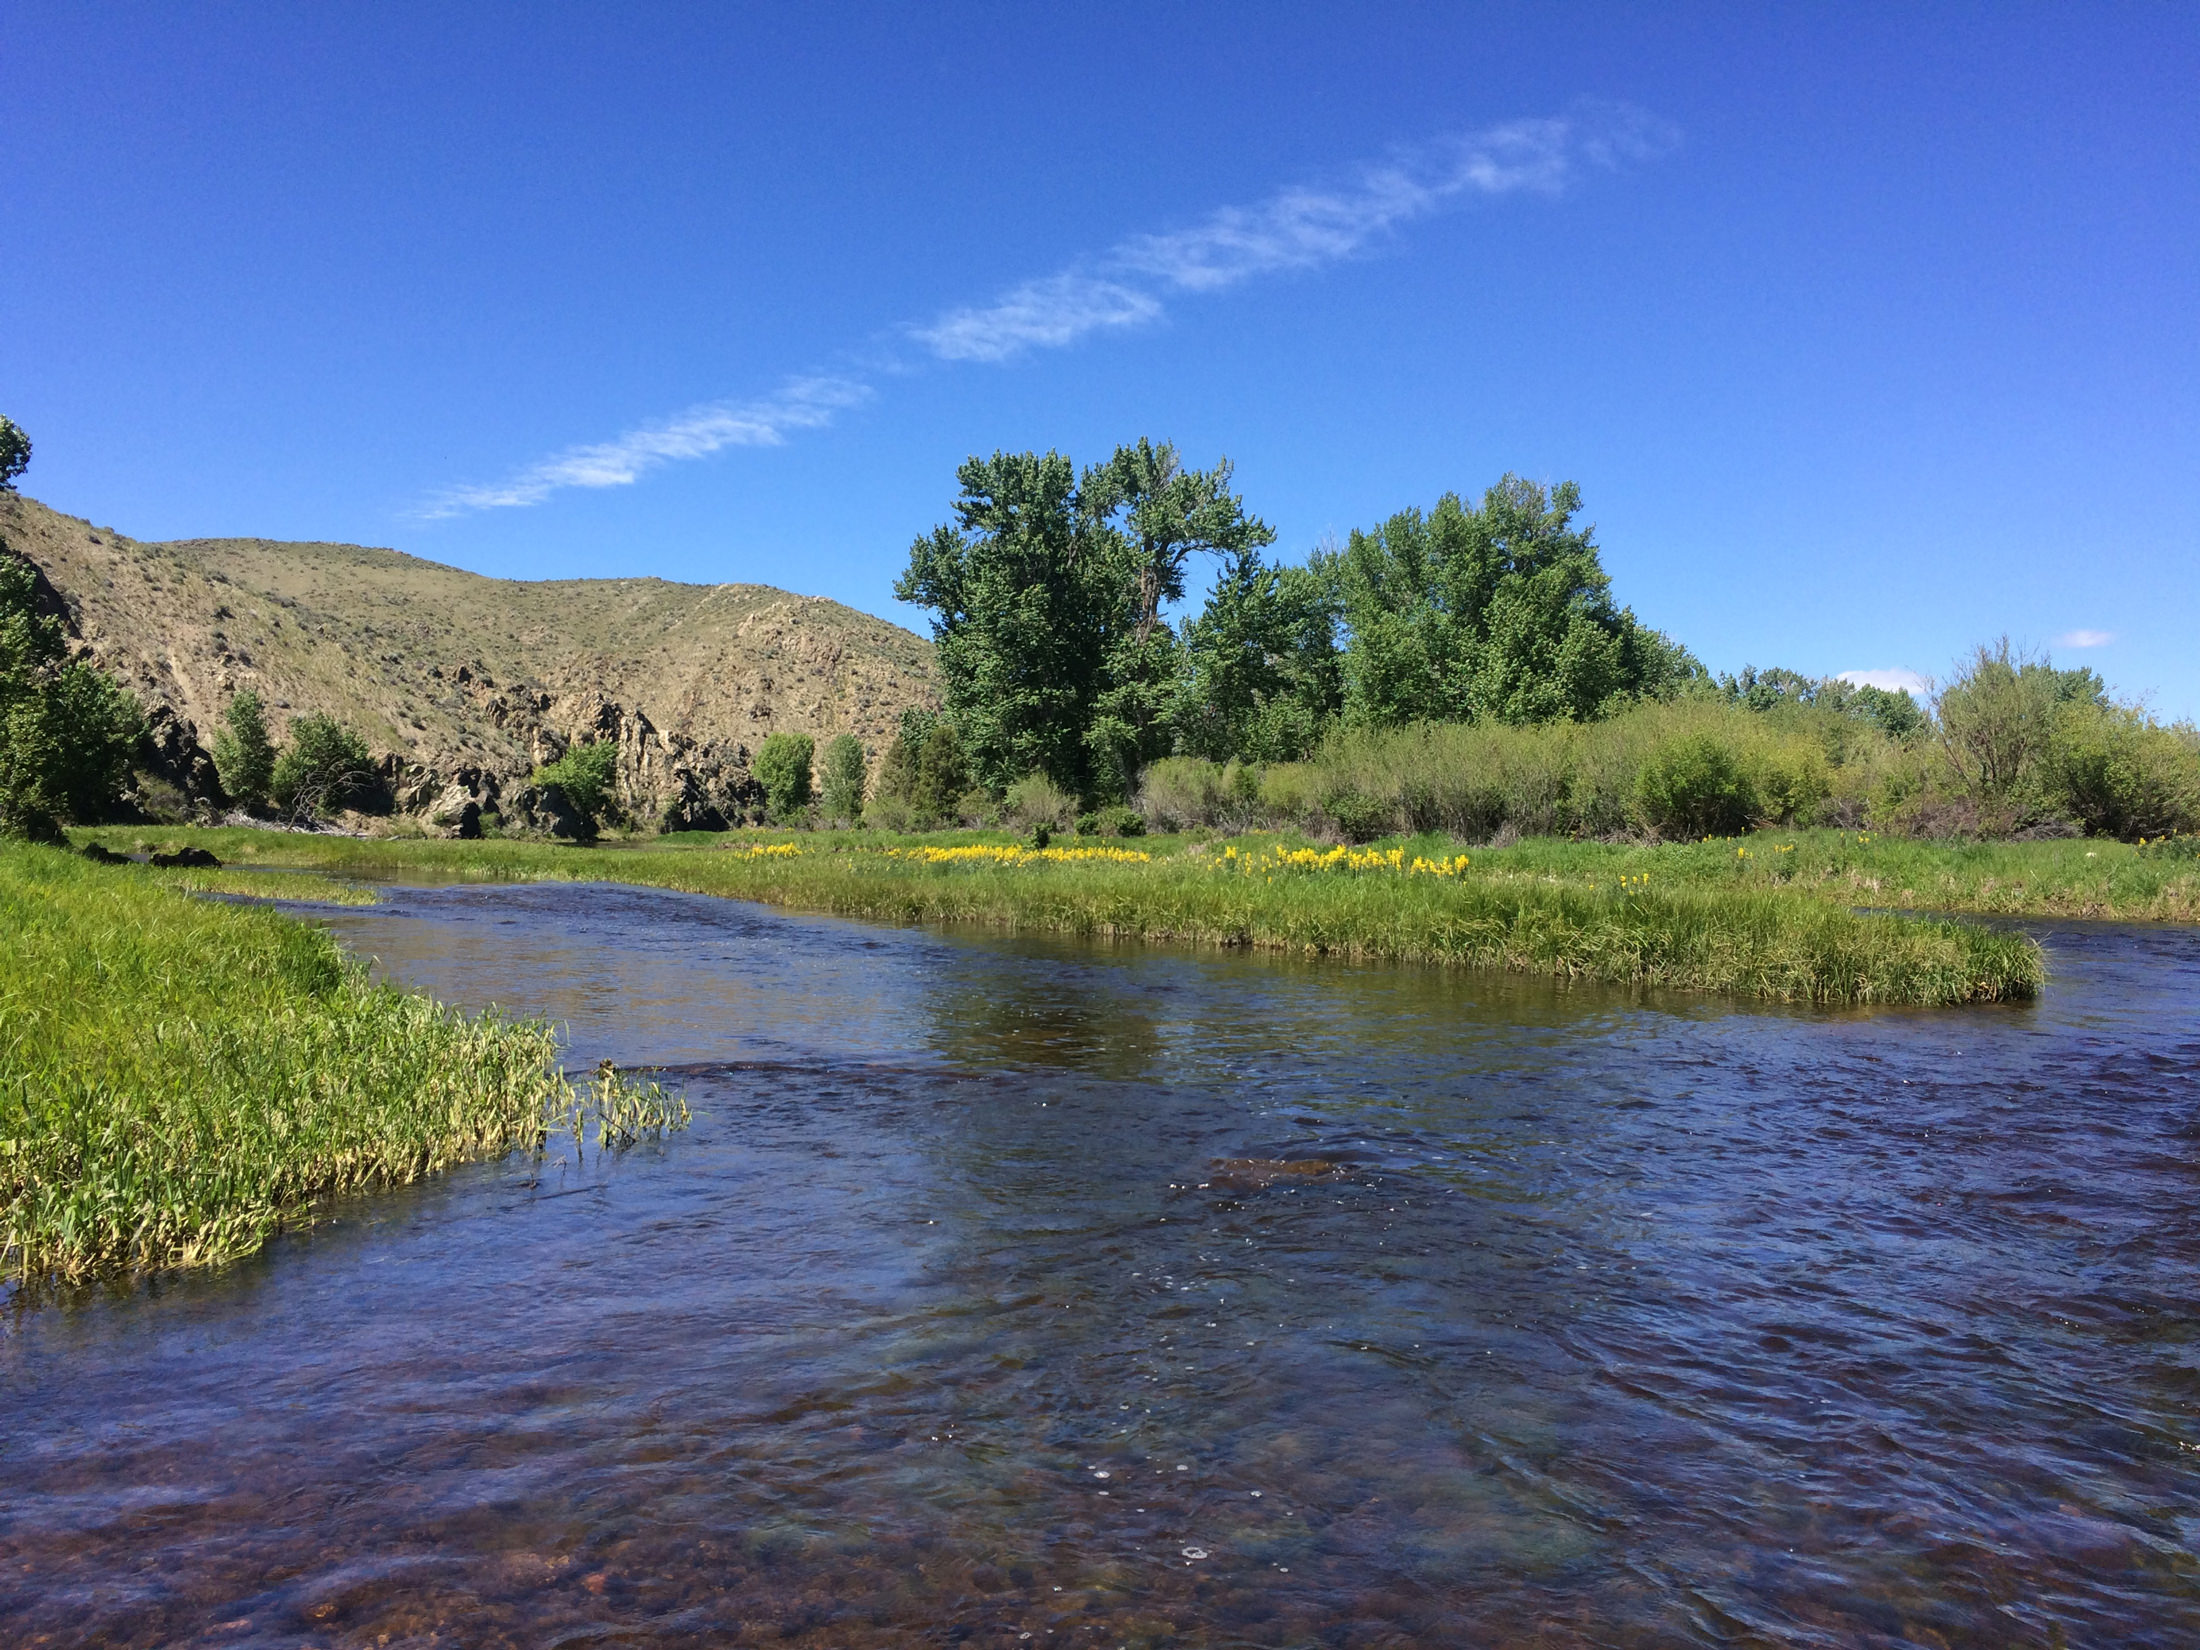
[[[1824,1014],[332,922],[695,1126],[18,1313],[4,1643],[2200,1643],[2196,931]]]

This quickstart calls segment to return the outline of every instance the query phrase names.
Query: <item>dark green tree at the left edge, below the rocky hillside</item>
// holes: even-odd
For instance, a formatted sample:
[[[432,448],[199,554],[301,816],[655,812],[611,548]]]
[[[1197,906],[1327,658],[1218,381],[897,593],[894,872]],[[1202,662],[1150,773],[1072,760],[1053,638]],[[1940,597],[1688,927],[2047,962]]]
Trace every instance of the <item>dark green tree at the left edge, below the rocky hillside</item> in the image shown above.
[[[37,612],[37,572],[0,546],[0,836],[55,840],[62,821],[121,799],[145,715],[114,680],[68,658]]]

